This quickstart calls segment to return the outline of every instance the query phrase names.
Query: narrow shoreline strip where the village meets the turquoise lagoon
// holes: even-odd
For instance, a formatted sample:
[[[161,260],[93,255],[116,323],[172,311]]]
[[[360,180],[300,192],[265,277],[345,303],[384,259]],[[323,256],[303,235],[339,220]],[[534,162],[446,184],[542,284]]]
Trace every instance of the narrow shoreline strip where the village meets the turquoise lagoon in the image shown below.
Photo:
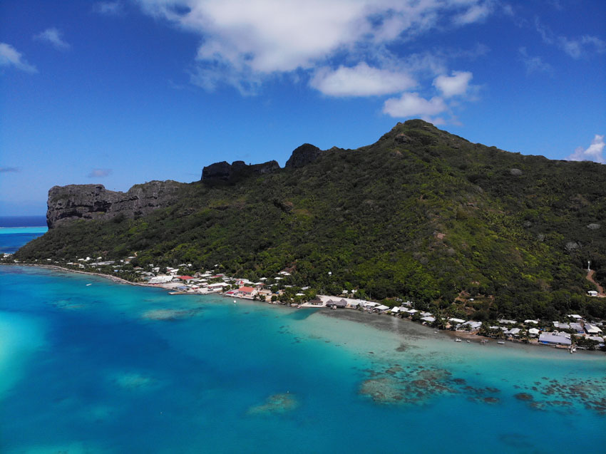
[[[93,272],[86,272],[86,271],[79,271],[77,269],[68,269],[68,268],[63,268],[63,267],[59,267],[58,265],[51,265],[51,264],[25,264],[25,263],[6,263],[6,264],[0,264],[0,265],[8,265],[8,266],[12,266],[12,267],[38,267],[38,268],[44,268],[44,269],[51,269],[51,270],[58,270],[58,271],[62,271],[62,272],[71,272],[71,273],[77,273],[77,274],[88,274],[90,276],[96,276],[96,277],[103,277],[104,279],[110,279],[112,282],[114,282],[115,284],[128,284],[128,285],[134,285],[137,287],[148,287],[148,288],[152,288],[152,289],[163,289],[166,291],[170,291],[170,288],[167,287],[162,287],[161,285],[156,285],[156,284],[143,284],[141,282],[130,282],[127,281],[126,279],[122,279],[120,277],[115,277],[112,276],[111,274],[103,274],[103,273],[93,273]],[[262,303],[262,304],[271,304],[272,306],[279,306],[279,304],[277,303],[272,303],[272,302],[267,302],[267,301],[259,301],[259,300],[255,300],[252,298],[247,298],[247,297],[242,297],[242,296],[234,296],[234,295],[225,295],[222,294],[220,292],[210,292],[207,294],[202,294],[202,293],[193,293],[193,292],[179,292],[178,294],[185,294],[185,295],[195,295],[195,296],[207,296],[207,295],[216,295],[216,296],[222,296],[224,298],[235,298],[235,299],[242,299],[245,301],[251,301],[254,303]],[[304,307],[298,307],[298,306],[289,306],[286,305],[287,307],[291,308],[291,309],[308,309],[312,306],[304,306]],[[326,306],[313,306],[314,309],[327,309]],[[347,310],[349,309],[349,310]],[[388,331],[388,332],[394,332],[393,329],[393,324],[391,323],[391,319],[397,319],[398,321],[404,321],[404,319],[399,319],[399,317],[394,317],[394,316],[387,316],[390,319],[390,325],[391,326],[387,326],[387,323],[384,321],[385,318],[385,314],[367,314],[365,312],[361,312],[357,309],[348,307],[348,308],[344,308],[342,310],[337,309],[337,311],[332,311],[332,310],[325,310],[322,311],[324,316],[332,316],[334,317],[334,315],[337,315],[338,313],[344,313],[347,312],[349,314],[351,314],[353,311],[357,312],[358,315],[364,314],[364,315],[369,315],[372,316],[371,318],[367,318],[364,316],[346,316],[346,319],[349,319],[351,321],[356,321],[356,323],[361,323],[361,324],[365,324],[367,326],[372,326],[375,329],[379,329],[379,331]],[[353,314],[351,314],[353,315]],[[334,318],[339,318],[334,317]],[[503,340],[505,341],[505,345],[510,345],[513,346],[514,348],[523,348],[523,347],[527,347],[527,346],[540,346],[540,347],[551,347],[554,350],[563,350],[563,351],[567,351],[568,348],[565,347],[559,347],[559,346],[553,346],[553,345],[545,345],[545,344],[540,344],[538,341],[534,341],[534,342],[529,342],[528,344],[523,343],[522,341],[519,340],[513,340],[513,339],[494,339],[491,337],[486,337],[486,336],[481,336],[479,334],[472,334],[469,333],[467,331],[451,331],[449,329],[433,329],[431,326],[428,326],[426,324],[419,324],[416,323],[412,320],[406,319],[406,321],[409,321],[411,324],[414,324],[414,326],[418,326],[419,328],[423,327],[424,329],[427,330],[427,334],[429,334],[429,330],[433,330],[434,332],[437,332],[438,334],[440,334],[441,336],[448,336],[449,338],[451,338],[452,341],[454,341],[454,339],[456,339],[457,337],[460,339],[466,339],[469,341],[472,341],[471,343],[473,344],[481,344],[482,341],[498,341],[498,340]],[[421,329],[423,329],[421,328]],[[473,342],[474,340],[476,340],[477,342]],[[594,353],[602,353],[599,350],[596,351],[590,351],[590,350],[586,350],[586,349],[580,349],[577,350],[576,353],[585,353],[585,354],[594,354]]]

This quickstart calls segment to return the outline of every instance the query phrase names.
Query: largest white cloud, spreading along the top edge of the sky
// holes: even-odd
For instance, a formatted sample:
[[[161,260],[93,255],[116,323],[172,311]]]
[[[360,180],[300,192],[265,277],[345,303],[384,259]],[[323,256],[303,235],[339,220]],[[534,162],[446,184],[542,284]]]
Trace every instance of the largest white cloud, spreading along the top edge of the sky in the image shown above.
[[[466,17],[458,19],[461,24],[479,21],[488,14],[486,5],[492,4],[485,0],[138,1],[146,13],[200,34],[197,61],[202,72],[230,69],[231,80],[313,71],[337,55],[361,63],[356,51],[364,46],[381,47],[458,16]]]

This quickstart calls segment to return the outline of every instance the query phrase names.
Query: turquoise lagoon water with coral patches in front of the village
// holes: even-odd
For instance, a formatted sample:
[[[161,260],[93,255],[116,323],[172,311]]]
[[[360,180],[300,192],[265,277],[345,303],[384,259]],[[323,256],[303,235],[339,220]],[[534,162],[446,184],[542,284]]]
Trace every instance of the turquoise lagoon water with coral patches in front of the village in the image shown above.
[[[1,453],[596,453],[605,411],[603,353],[0,266]]]

